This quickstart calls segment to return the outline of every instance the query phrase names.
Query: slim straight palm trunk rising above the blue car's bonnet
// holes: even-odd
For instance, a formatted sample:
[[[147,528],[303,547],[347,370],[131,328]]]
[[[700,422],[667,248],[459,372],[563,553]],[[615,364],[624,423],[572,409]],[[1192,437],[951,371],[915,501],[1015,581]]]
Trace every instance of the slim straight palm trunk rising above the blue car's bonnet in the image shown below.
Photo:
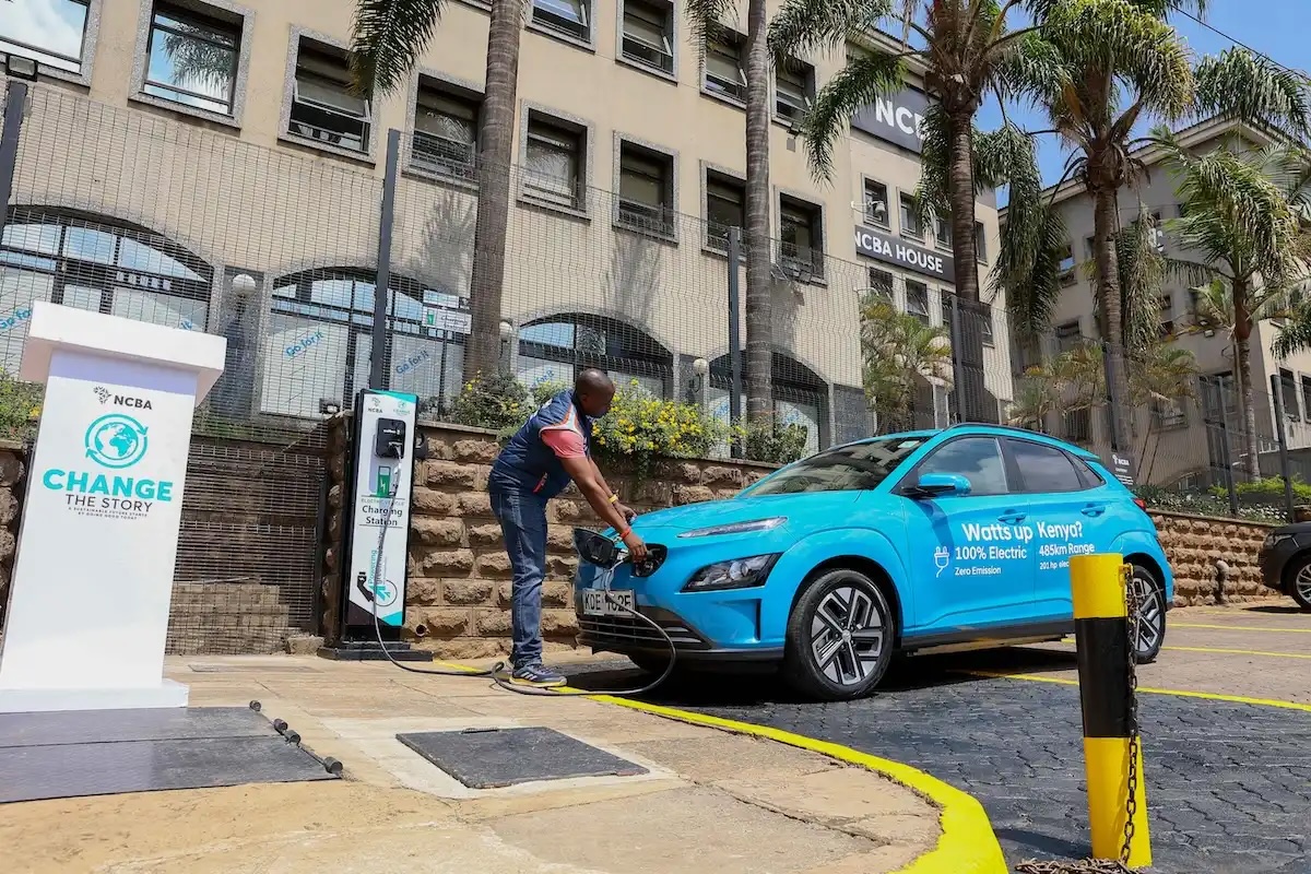
[[[746,38],[746,411],[773,411],[773,287],[770,278],[770,46],[764,0],[750,0]]]

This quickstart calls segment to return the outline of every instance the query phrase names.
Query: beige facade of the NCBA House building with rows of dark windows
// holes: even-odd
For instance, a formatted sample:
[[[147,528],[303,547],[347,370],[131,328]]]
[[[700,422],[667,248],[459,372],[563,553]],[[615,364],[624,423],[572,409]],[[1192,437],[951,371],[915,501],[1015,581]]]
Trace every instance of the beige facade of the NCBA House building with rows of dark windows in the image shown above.
[[[0,241],[0,367],[35,299],[229,341],[212,405],[319,418],[367,385],[389,241],[391,388],[448,404],[465,380],[489,8],[451,0],[405,88],[349,86],[351,0],[9,0],[0,55],[39,63]],[[741,20],[745,21],[745,9]],[[726,229],[743,221],[741,34],[699,46],[678,3],[535,0],[519,59],[502,341],[526,383],[599,366],[726,414]],[[794,122],[843,58],[771,89],[775,406],[812,448],[868,434],[863,295],[940,326],[949,223],[910,208],[922,92],[860,113],[817,183]],[[389,131],[401,148],[383,220]],[[978,204],[987,287],[998,211]],[[385,227],[384,227],[385,225]],[[987,389],[1011,398],[1004,300]],[[745,326],[742,334],[745,337]],[[924,425],[947,421],[947,385]]]

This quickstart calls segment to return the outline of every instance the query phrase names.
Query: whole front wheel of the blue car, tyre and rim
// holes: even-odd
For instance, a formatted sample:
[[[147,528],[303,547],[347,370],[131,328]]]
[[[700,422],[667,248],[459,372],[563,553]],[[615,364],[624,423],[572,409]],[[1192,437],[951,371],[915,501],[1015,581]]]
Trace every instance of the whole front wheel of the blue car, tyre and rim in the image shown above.
[[[895,617],[869,577],[847,567],[814,575],[788,617],[783,675],[825,701],[874,691],[893,656]]]

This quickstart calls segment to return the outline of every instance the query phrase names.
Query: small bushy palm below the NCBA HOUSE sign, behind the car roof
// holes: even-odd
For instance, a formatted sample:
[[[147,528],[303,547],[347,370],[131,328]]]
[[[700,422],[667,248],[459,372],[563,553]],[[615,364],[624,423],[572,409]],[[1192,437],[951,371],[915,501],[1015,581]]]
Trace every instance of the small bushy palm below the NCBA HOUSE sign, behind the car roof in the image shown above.
[[[947,330],[898,312],[877,292],[861,301],[860,351],[865,401],[878,415],[881,431],[915,427],[919,389],[952,387]]]

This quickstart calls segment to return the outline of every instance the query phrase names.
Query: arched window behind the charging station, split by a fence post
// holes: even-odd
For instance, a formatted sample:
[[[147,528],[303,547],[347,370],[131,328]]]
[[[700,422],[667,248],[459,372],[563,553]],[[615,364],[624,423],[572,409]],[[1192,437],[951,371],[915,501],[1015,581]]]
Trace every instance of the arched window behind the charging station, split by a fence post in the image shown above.
[[[273,286],[261,409],[319,417],[323,400],[343,406],[368,388],[375,274],[354,267],[305,270]],[[459,393],[468,299],[392,275],[387,388],[444,408]]]

